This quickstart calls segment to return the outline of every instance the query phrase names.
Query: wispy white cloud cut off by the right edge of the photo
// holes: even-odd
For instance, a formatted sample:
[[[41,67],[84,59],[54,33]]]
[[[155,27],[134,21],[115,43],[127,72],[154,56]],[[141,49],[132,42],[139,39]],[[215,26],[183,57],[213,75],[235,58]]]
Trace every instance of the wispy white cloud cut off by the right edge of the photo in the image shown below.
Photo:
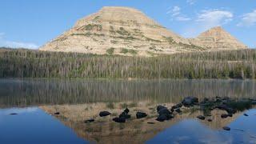
[[[256,10],[251,13],[243,14],[241,22],[238,26],[254,26],[256,25]]]

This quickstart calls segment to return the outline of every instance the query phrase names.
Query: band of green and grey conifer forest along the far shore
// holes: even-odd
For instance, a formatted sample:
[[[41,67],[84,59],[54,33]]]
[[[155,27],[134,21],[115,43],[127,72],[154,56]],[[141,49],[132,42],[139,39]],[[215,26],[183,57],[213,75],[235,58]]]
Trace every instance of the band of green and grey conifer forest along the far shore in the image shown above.
[[[256,78],[256,50],[153,58],[0,49],[0,78]]]

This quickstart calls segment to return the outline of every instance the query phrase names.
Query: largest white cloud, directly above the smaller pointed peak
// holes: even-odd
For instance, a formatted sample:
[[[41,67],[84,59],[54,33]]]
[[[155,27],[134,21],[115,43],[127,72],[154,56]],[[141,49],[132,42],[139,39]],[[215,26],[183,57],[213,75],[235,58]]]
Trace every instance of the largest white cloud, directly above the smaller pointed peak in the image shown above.
[[[202,10],[194,22],[184,29],[182,35],[186,38],[193,38],[205,30],[209,30],[214,26],[223,26],[232,21],[234,14],[227,10]]]

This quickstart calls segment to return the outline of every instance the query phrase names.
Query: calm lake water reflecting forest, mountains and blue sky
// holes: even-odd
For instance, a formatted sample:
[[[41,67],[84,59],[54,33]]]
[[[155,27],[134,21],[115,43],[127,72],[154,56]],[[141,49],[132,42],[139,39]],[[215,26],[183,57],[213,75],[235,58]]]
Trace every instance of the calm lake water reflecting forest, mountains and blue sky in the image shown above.
[[[254,107],[230,118],[214,110],[212,122],[197,118],[201,110],[186,109],[155,121],[156,106],[187,96],[255,99],[256,81],[0,79],[0,143],[256,143]],[[113,122],[126,107],[130,120]],[[102,110],[112,114],[100,118]],[[137,111],[148,116],[136,119]],[[84,122],[90,118],[95,121]]]

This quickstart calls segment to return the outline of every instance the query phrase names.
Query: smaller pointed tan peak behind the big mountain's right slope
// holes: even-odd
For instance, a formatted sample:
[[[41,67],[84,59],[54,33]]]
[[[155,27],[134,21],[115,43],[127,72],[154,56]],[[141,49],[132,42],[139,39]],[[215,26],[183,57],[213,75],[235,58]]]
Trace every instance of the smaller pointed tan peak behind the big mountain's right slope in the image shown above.
[[[194,45],[210,48],[210,50],[236,50],[248,48],[230,35],[221,26],[213,27],[199,34],[198,38],[190,39]]]

